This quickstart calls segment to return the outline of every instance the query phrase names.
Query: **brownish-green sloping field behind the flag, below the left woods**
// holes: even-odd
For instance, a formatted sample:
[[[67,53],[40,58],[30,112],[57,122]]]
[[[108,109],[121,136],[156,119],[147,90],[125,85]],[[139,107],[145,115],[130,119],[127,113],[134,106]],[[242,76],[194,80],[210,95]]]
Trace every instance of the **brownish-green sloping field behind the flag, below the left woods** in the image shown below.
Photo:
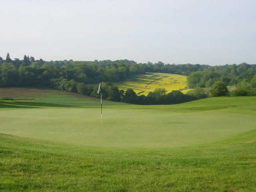
[[[100,99],[98,98],[48,88],[0,88],[0,98],[5,96],[12,96],[15,100],[54,104],[86,106],[98,106],[100,104]],[[104,105],[124,104],[125,103],[104,100]]]

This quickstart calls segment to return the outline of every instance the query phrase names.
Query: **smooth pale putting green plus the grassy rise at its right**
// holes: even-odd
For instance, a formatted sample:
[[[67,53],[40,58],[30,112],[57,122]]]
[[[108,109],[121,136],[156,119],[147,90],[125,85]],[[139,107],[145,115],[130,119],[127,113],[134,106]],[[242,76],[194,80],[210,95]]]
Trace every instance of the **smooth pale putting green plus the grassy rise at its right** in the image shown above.
[[[218,100],[218,105],[212,105]],[[6,105],[8,104],[8,105]],[[12,105],[10,105],[12,104]],[[0,132],[82,146],[165,148],[204,144],[255,129],[253,97],[208,98],[184,104],[44,107],[0,111]],[[252,105],[254,104],[254,105]]]

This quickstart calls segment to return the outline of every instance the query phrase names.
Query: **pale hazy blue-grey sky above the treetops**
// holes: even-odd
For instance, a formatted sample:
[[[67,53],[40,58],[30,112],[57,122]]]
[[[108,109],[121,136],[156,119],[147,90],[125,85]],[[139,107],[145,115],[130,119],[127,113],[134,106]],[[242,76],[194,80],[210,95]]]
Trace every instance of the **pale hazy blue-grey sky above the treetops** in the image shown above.
[[[256,64],[255,0],[0,0],[0,56]]]

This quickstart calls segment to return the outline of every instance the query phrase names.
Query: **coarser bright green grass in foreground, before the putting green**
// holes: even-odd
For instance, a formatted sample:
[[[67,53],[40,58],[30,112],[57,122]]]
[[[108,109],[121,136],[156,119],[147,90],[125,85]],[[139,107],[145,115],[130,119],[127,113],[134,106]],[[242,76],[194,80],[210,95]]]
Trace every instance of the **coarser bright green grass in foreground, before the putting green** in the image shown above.
[[[1,191],[255,191],[256,131],[206,145],[116,149],[0,135]]]

